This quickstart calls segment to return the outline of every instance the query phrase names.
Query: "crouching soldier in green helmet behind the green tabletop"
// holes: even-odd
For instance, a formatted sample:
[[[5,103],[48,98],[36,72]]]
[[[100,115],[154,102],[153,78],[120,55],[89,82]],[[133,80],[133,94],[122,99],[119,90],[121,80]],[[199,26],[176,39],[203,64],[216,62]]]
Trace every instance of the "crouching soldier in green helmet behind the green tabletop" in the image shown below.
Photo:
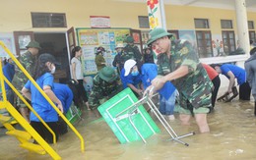
[[[93,90],[89,96],[89,106],[95,110],[100,104],[122,90],[120,80],[111,67],[104,67],[94,78]]]

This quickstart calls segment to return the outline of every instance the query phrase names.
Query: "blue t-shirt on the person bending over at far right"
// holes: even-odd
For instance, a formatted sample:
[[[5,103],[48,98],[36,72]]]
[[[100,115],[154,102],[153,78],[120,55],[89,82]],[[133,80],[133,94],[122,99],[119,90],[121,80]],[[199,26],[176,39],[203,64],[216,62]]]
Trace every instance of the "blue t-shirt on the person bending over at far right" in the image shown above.
[[[233,73],[234,77],[237,79],[238,84],[242,84],[246,81],[246,73],[245,70],[231,64],[224,64],[221,66],[222,74],[229,79],[227,73],[230,71]]]

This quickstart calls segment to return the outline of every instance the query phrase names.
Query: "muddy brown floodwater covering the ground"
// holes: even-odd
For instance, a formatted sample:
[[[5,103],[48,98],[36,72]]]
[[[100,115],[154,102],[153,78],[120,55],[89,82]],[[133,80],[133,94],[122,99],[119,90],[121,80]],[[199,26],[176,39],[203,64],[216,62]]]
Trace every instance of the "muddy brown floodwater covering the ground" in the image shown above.
[[[211,133],[200,134],[192,119],[191,126],[180,126],[178,119],[169,122],[178,135],[195,132],[181,138],[189,143],[182,145],[170,141],[169,134],[153,119],[161,133],[147,138],[147,143],[136,141],[120,144],[114,133],[102,119],[96,119],[90,111],[84,112],[85,120],[75,127],[85,139],[86,151],[81,152],[80,140],[75,133],[61,136],[52,147],[64,160],[250,160],[256,159],[256,117],[254,102],[234,100],[217,102],[215,111],[208,115]],[[178,115],[175,115],[177,118]],[[0,159],[47,160],[48,155],[38,155],[19,147],[18,141],[9,135],[0,134]]]

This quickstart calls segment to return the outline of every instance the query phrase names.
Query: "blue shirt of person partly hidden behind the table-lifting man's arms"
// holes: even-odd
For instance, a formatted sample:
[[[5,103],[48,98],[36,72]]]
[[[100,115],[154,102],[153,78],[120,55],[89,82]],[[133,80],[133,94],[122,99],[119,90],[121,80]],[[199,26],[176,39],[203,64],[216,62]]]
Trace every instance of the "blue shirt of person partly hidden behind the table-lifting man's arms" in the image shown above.
[[[158,66],[156,64],[146,63],[142,66],[141,70],[143,85],[146,89],[148,86],[151,85],[151,81],[158,76]],[[159,93],[165,99],[169,99],[175,89],[175,86],[170,81],[167,81],[160,88]]]

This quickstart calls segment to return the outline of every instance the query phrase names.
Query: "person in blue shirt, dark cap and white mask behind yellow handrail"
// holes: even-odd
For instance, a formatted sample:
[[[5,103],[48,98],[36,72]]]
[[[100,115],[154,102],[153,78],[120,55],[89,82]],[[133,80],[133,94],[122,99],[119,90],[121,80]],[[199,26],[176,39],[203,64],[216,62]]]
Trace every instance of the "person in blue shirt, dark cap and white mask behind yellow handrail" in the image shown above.
[[[54,63],[55,58],[52,55],[48,53],[41,54],[38,58],[32,78],[63,113],[62,103],[52,91],[52,88],[54,87],[52,76],[52,74],[54,74],[55,72]],[[22,93],[24,94],[24,96],[32,101],[32,108],[56,134],[56,140],[58,140],[57,112],[41,95],[37,88],[32,84],[31,80],[28,80],[28,82],[25,84],[22,89]],[[52,134],[49,133],[49,131],[42,125],[42,123],[35,117],[32,112],[30,119],[32,128],[37,133],[39,133],[41,137],[44,138],[47,142],[52,143]]]

